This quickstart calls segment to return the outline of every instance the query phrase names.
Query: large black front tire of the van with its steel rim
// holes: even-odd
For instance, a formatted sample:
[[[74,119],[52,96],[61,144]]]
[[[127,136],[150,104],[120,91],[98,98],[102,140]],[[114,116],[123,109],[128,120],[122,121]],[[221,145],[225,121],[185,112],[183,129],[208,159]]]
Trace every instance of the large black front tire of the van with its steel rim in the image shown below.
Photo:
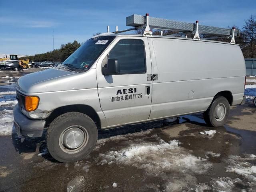
[[[68,130],[79,127],[86,135],[76,149],[65,146],[64,137]],[[95,147],[98,130],[93,120],[80,112],[68,112],[58,116],[47,130],[46,143],[51,156],[63,163],[76,162],[85,158]],[[68,140],[68,139],[67,139]]]

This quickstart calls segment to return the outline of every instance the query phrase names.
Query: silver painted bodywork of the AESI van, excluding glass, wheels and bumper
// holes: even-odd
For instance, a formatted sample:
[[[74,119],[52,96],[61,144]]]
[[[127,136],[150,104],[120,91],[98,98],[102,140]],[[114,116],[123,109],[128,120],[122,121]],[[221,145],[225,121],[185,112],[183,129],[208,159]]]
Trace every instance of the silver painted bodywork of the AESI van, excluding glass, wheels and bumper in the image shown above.
[[[35,111],[22,113],[31,120],[45,120],[57,108],[86,105],[98,114],[101,128],[108,129],[204,112],[222,91],[232,94],[232,105],[244,101],[245,62],[238,45],[164,36],[114,36],[86,72],[49,69],[21,77],[17,92],[40,98]],[[120,40],[144,42],[146,72],[102,74]],[[152,81],[152,74],[158,79]]]

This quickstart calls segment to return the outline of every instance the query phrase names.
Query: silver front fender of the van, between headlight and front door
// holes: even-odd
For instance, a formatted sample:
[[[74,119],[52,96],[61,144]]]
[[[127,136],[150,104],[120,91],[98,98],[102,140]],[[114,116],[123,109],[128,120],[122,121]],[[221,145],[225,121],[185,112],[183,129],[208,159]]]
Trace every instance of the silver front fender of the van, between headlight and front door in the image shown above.
[[[45,70],[45,72],[47,71],[49,70]],[[52,71],[56,74],[59,72],[59,70]],[[24,77],[26,77],[26,81],[33,82],[32,77],[34,78],[34,76],[26,75]],[[44,119],[59,107],[79,104],[92,107],[98,114],[102,126],[106,125],[106,118],[100,108],[95,69],[90,69],[84,73],[71,73],[65,78],[60,76],[59,78],[40,81],[28,87],[27,92],[24,92],[26,87],[23,86],[23,81],[21,82],[18,81],[19,86],[16,88],[18,92],[26,96],[36,95],[40,98],[38,108],[28,112],[29,118]]]

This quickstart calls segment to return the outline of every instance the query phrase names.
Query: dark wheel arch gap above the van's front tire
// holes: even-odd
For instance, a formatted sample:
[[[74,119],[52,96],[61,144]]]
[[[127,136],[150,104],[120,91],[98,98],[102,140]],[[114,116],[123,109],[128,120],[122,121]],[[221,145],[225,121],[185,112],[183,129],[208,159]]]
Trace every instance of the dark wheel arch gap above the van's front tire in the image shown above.
[[[54,109],[46,118],[46,126],[48,127],[50,123],[57,118],[58,116],[67,113],[67,112],[80,112],[89,116],[96,124],[97,128],[101,127],[100,117],[97,112],[89,105],[67,105]]]

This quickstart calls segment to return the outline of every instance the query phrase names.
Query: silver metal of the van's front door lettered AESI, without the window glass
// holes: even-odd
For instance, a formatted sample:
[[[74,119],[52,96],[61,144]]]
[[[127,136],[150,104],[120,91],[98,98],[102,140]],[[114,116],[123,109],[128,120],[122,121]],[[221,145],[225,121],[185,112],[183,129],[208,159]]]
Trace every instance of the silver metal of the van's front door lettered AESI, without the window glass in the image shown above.
[[[146,73],[102,74],[104,58],[122,39],[143,40],[146,56]],[[96,70],[100,106],[106,116],[106,128],[148,119],[151,109],[152,81],[147,80],[147,74],[151,74],[152,69],[147,38],[117,37],[98,60]],[[147,94],[147,87],[150,89],[149,94]],[[136,92],[134,91],[135,88]],[[129,89],[131,89],[130,92]],[[114,102],[112,99],[114,99]]]

